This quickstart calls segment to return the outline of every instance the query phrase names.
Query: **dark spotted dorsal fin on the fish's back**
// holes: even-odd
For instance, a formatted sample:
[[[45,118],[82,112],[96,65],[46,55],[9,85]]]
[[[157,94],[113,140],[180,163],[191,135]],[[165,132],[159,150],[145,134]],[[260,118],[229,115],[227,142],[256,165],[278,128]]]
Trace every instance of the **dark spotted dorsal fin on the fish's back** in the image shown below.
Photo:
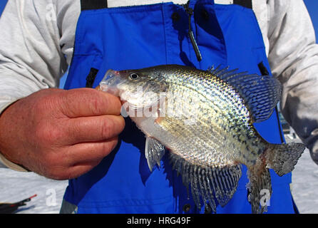
[[[229,83],[240,93],[255,123],[270,118],[282,92],[282,86],[277,78],[247,74],[247,72],[237,73],[237,69],[232,71],[228,69],[229,67],[220,69],[220,66],[217,66],[215,69],[209,68],[208,71]]]

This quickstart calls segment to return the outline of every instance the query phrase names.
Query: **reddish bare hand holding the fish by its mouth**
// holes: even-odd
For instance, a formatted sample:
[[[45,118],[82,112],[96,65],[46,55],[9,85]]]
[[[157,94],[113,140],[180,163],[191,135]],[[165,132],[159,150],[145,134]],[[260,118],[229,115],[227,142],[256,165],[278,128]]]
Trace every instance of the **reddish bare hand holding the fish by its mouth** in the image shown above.
[[[115,96],[78,88],[39,90],[0,115],[0,151],[54,180],[78,177],[116,147],[125,126]]]

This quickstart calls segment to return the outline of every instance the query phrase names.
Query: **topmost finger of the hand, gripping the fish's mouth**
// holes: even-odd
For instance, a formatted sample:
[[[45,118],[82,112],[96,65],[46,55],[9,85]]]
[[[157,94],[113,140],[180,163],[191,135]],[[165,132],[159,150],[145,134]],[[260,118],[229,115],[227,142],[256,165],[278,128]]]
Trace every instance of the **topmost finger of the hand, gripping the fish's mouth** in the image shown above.
[[[62,112],[69,118],[120,115],[120,99],[93,88],[76,88],[63,95]]]

